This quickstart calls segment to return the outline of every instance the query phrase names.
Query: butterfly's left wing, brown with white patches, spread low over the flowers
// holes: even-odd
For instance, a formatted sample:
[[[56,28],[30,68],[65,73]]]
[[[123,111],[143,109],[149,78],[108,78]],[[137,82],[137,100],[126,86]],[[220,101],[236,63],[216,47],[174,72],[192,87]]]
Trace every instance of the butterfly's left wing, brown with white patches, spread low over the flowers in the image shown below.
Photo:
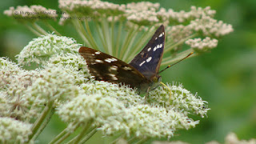
[[[90,73],[96,80],[123,83],[139,88],[148,80],[133,66],[101,51],[82,46],[79,53],[86,59]]]

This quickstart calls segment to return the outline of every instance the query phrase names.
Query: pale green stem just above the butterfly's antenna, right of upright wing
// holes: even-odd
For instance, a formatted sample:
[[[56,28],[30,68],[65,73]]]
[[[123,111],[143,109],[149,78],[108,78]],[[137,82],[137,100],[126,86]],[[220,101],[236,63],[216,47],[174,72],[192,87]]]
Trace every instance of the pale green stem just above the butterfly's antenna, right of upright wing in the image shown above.
[[[193,51],[194,50],[192,48],[190,48],[189,50],[185,50],[185,51],[182,51],[181,53],[177,54],[177,56],[175,58],[172,58],[172,57],[162,58],[161,66],[170,65],[170,63],[178,62],[179,60],[181,60],[182,58],[185,58],[188,54],[190,54]],[[190,58],[197,56],[197,55],[198,54],[192,54],[190,56]]]

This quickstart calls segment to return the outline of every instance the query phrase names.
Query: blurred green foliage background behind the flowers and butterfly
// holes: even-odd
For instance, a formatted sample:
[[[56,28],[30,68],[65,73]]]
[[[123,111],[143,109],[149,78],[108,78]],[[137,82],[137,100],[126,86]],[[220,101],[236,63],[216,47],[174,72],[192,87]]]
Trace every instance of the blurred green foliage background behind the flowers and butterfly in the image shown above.
[[[138,1],[109,1],[128,3]],[[173,66],[162,74],[163,82],[181,82],[193,94],[209,102],[207,118],[198,118],[194,129],[180,130],[172,140],[205,143],[212,140],[224,142],[226,134],[234,132],[241,139],[256,138],[256,1],[255,0],[159,0],[166,9],[190,10],[190,6],[210,6],[217,10],[216,19],[230,23],[234,32],[218,42],[210,53]],[[24,46],[37,38],[21,23],[3,15],[10,6],[42,5],[58,10],[58,1],[10,0],[0,1],[0,56],[14,60]],[[73,37],[69,26],[52,25],[63,35]],[[79,42],[79,41],[78,41]],[[80,41],[79,43],[83,43]],[[48,142],[65,126],[58,118],[40,137],[40,143]],[[98,137],[104,142],[99,134]]]

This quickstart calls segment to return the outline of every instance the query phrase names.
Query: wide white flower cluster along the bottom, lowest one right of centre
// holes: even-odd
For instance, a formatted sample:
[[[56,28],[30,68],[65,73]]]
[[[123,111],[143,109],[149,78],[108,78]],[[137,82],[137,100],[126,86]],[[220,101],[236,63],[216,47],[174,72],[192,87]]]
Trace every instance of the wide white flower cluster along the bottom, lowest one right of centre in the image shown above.
[[[171,138],[175,130],[189,129],[198,121],[161,106],[137,105],[126,108],[118,117],[107,118],[103,123],[99,130],[106,135],[122,132],[128,138]]]

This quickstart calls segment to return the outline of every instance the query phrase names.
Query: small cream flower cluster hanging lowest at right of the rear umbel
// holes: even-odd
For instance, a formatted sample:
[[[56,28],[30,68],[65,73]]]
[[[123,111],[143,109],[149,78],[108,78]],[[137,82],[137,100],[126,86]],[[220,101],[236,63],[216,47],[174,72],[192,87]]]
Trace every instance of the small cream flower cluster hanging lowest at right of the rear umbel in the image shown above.
[[[204,39],[194,38],[187,40],[185,43],[197,52],[205,52],[216,47],[218,45],[218,40],[215,38],[211,39],[209,37]]]

